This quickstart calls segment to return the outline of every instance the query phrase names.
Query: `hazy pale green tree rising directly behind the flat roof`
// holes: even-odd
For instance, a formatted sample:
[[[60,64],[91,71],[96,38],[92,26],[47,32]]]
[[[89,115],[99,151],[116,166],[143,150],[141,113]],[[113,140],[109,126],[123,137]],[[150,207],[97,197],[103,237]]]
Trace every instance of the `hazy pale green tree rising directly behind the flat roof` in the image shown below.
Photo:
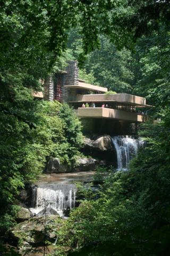
[[[100,86],[117,93],[131,93],[134,74],[131,52],[116,47],[104,36],[101,37],[101,47],[88,55],[85,67],[89,73],[92,70]]]

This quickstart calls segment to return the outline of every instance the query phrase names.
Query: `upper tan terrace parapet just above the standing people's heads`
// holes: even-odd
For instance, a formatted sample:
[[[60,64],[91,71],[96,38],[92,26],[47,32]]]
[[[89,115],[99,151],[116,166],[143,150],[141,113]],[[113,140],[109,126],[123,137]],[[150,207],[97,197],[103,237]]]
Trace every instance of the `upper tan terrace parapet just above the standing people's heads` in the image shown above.
[[[118,102],[135,105],[138,107],[152,107],[150,105],[146,105],[145,98],[126,93],[76,95],[75,100],[70,101],[70,103],[77,102]]]

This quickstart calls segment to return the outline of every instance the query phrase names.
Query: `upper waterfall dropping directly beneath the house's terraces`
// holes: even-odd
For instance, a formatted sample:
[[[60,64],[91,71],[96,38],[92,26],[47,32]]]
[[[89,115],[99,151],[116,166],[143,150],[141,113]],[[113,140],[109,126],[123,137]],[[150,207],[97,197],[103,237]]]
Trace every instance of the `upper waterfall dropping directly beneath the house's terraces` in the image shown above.
[[[117,154],[117,170],[128,170],[130,160],[137,155],[139,147],[143,147],[145,142],[134,139],[131,136],[114,136],[112,142]]]

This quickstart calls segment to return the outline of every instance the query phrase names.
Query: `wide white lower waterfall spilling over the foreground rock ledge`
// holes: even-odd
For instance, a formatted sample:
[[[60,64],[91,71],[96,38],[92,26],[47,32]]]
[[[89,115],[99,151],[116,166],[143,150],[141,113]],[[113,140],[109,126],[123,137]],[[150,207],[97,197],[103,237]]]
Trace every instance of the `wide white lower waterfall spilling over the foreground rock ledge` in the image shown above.
[[[32,196],[35,201],[33,202],[32,200],[32,208],[30,210],[37,214],[45,207],[50,207],[62,214],[63,210],[75,207],[75,194],[76,188],[73,184],[44,183],[42,186],[37,187],[36,190],[32,190]]]

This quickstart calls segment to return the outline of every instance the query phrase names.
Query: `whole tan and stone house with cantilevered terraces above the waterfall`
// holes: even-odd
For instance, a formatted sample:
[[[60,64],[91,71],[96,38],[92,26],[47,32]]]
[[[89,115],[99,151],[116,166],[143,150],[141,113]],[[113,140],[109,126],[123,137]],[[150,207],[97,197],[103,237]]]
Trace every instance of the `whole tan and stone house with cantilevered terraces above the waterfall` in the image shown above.
[[[79,79],[77,61],[68,61],[65,71],[44,81],[44,93],[38,92],[34,96],[69,103],[82,122],[86,119],[85,126],[89,131],[97,133],[117,130],[128,134],[124,127],[145,122],[148,116],[139,109],[150,107],[146,105],[145,98],[126,93],[108,94],[107,88],[87,84]],[[88,103],[89,107],[82,108],[83,103]]]

